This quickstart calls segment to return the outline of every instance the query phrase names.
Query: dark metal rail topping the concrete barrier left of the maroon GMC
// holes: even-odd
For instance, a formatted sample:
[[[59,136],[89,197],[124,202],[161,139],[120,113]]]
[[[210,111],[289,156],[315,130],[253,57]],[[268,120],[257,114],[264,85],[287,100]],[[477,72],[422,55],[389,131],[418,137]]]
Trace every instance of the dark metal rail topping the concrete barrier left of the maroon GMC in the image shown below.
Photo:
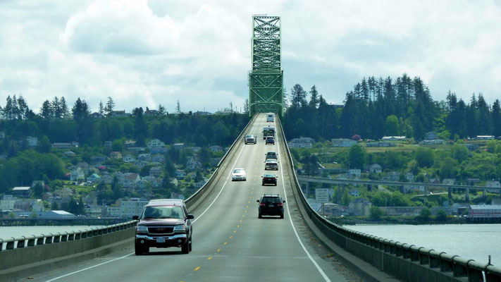
[[[0,238],[0,252],[5,252],[6,250],[20,249],[23,247],[35,247],[39,245],[61,243],[73,240],[81,240],[99,235],[106,235],[116,231],[133,228],[135,227],[136,222],[137,221],[128,221],[124,223],[113,224],[110,226],[89,228],[78,231],[70,231],[69,233],[68,232],[55,233],[55,234],[49,233],[40,235],[21,236],[18,238],[11,237],[8,239]]]

